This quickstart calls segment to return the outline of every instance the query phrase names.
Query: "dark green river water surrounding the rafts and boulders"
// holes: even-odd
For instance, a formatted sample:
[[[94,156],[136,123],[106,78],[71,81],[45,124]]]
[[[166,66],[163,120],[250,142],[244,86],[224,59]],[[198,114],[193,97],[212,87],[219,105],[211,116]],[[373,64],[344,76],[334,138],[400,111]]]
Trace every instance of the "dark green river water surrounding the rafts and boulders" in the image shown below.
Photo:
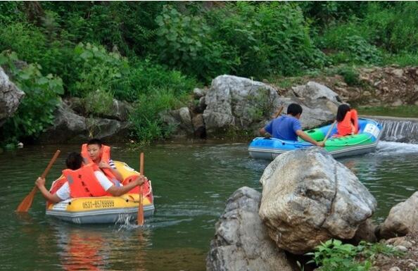
[[[59,146],[46,177],[60,175],[65,156],[80,146]],[[268,161],[248,157],[247,143],[160,144],[143,149],[153,182],[156,213],[133,224],[72,225],[46,218],[38,193],[27,215],[14,213],[58,146],[29,146],[0,153],[0,270],[205,270],[215,222],[239,187],[260,191]],[[114,160],[138,168],[138,151],[113,146]],[[418,184],[418,145],[381,141],[375,153],[339,161],[372,192],[384,220]]]

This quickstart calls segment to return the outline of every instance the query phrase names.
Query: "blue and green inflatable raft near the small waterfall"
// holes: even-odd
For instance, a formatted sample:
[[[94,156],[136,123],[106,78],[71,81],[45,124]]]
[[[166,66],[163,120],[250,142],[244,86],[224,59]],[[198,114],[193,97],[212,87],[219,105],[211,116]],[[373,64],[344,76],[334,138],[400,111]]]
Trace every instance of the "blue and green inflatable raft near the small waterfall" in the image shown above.
[[[346,137],[331,137],[325,142],[324,149],[329,151],[334,158],[353,156],[369,153],[376,149],[381,137],[382,126],[374,120],[359,118],[359,132]],[[316,141],[324,140],[331,125],[326,125],[305,131]],[[336,134],[336,127],[331,130],[331,136]],[[276,138],[256,137],[248,146],[248,152],[252,158],[273,160],[281,153],[313,146],[309,142],[289,141]]]

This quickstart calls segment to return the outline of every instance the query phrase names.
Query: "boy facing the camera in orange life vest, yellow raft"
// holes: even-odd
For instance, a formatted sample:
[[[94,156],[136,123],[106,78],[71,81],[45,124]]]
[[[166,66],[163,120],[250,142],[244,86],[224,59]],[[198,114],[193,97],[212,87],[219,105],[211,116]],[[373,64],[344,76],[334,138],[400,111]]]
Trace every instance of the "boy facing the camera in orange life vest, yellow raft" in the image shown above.
[[[82,156],[86,163],[92,161],[103,170],[105,175],[113,181],[113,178],[123,181],[123,177],[116,169],[115,163],[110,159],[110,147],[105,146],[100,139],[90,139],[82,146]]]

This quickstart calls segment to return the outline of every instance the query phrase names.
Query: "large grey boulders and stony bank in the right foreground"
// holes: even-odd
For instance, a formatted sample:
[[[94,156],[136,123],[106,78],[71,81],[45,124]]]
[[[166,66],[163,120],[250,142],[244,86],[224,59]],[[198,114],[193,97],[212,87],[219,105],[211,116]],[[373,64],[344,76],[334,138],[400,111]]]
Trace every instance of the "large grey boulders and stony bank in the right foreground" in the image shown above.
[[[228,199],[215,225],[207,270],[300,270],[297,262],[306,262],[304,254],[328,239],[381,241],[405,254],[374,256],[374,270],[416,270],[418,192],[376,227],[370,219],[376,208],[372,194],[316,147],[282,154],[260,183],[261,194],[242,187]]]

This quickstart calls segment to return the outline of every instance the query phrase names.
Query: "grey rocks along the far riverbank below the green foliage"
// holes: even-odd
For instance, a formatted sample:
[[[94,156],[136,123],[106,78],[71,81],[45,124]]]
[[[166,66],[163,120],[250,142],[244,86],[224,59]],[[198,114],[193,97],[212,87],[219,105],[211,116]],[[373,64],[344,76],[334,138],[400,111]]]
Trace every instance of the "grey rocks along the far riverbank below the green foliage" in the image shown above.
[[[194,89],[191,101],[184,107],[161,112],[160,118],[173,128],[172,137],[254,137],[278,108],[286,108],[293,102],[303,106],[300,120],[305,129],[331,122],[341,102],[376,106],[418,104],[417,67],[360,68],[357,73],[357,79],[350,84],[338,74],[288,77],[274,83],[220,75],[209,87]],[[4,112],[0,111],[0,124],[18,108],[23,96],[7,75],[1,78],[0,104],[4,104],[1,107]],[[284,80],[287,87],[283,87]],[[132,105],[113,100],[110,113],[91,115],[86,110],[87,102],[64,99],[55,112],[53,125],[40,141],[75,142],[86,137],[106,141],[129,139]]]

